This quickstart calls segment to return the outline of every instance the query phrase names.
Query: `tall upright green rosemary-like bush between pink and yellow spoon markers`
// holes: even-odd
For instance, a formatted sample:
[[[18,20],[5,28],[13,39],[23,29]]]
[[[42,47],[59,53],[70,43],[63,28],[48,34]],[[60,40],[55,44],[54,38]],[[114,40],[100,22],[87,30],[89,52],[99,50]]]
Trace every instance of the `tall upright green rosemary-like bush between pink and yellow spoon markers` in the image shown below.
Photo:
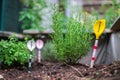
[[[85,23],[81,24],[74,18],[69,18],[63,23],[63,17],[62,13],[55,12],[53,15],[52,42],[55,45],[59,61],[76,63],[89,50],[92,36]]]

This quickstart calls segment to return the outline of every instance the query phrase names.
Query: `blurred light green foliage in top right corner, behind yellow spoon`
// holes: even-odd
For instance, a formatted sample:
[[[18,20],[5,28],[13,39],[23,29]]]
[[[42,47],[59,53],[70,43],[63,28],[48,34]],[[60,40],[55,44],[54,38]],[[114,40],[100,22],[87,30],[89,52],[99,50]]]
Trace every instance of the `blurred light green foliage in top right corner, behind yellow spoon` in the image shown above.
[[[113,22],[120,16],[120,3],[116,0],[111,0],[112,5],[108,7],[107,5],[103,5],[102,8],[106,8],[107,10],[103,14],[103,18],[106,19],[106,27],[110,28]]]

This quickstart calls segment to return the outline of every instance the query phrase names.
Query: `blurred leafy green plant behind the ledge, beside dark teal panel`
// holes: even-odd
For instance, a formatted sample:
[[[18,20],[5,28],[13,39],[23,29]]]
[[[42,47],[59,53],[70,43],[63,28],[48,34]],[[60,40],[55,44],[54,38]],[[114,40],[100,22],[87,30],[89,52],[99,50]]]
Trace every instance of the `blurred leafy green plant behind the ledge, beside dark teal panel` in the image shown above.
[[[37,29],[42,31],[40,25],[42,14],[40,13],[45,7],[45,0],[21,0],[25,8],[20,12],[19,21],[22,21],[23,29]]]

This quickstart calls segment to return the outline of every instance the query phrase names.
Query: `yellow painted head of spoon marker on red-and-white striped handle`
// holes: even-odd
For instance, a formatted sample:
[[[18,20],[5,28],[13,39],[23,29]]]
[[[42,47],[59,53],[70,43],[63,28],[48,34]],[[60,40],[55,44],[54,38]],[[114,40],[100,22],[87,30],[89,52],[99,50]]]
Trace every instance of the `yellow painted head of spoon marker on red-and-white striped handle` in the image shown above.
[[[104,32],[105,27],[106,27],[105,24],[106,24],[105,19],[97,20],[94,23],[94,33],[96,35],[96,39],[99,39],[99,37],[101,36],[101,34]]]

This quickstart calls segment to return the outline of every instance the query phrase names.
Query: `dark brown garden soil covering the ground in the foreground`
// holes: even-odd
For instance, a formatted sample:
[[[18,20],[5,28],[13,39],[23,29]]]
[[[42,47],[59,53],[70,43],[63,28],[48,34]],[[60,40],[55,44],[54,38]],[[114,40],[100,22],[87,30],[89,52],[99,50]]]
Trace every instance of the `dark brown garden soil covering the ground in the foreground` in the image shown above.
[[[62,63],[33,63],[31,73],[27,67],[0,69],[0,80],[120,80],[120,62],[111,65],[95,65],[90,69],[84,65]]]

